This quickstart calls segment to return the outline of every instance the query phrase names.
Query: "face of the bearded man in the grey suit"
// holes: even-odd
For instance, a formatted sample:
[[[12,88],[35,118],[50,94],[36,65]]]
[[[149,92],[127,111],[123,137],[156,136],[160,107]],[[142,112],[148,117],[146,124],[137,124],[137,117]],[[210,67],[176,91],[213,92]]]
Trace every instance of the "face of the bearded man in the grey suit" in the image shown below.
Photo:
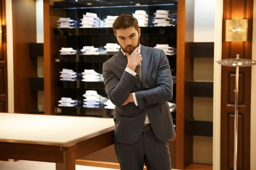
[[[128,54],[140,45],[140,29],[138,32],[135,27],[118,29],[115,36],[122,50]]]

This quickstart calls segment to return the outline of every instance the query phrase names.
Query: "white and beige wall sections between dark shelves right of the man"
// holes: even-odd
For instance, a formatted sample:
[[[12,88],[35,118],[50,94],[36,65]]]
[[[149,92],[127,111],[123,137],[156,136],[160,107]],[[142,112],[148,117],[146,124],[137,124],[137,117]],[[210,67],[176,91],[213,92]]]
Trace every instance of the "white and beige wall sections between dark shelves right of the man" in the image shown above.
[[[215,1],[195,0],[194,42],[214,42]],[[213,81],[213,58],[194,58],[194,81]],[[195,120],[213,120],[213,98],[194,97]],[[212,164],[212,137],[193,137],[193,162]]]

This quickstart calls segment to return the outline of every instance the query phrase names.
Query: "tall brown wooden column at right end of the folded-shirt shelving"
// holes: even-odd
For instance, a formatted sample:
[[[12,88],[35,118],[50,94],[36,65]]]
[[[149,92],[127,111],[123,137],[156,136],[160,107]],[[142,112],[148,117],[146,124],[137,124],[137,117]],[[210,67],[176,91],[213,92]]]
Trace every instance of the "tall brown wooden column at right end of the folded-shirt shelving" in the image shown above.
[[[179,0],[177,8],[175,169],[185,169],[193,161],[193,136],[189,135],[189,120],[193,118],[193,98],[189,94],[189,83],[193,80],[193,59],[189,57],[189,42],[194,41],[194,0]]]

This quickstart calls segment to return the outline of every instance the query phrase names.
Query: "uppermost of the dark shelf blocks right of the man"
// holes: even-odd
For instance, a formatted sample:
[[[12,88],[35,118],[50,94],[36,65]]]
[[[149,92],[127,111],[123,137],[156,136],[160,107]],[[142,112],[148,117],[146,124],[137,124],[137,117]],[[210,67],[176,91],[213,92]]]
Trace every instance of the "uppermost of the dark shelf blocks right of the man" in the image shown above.
[[[213,58],[214,42],[190,42],[190,57]]]

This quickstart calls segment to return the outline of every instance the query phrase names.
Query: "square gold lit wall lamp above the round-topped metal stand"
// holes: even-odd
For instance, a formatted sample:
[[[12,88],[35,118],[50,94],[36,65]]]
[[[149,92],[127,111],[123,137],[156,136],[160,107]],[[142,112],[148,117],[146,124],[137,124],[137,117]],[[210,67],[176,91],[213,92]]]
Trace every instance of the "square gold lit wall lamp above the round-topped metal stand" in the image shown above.
[[[226,41],[247,41],[248,20],[226,20]]]

